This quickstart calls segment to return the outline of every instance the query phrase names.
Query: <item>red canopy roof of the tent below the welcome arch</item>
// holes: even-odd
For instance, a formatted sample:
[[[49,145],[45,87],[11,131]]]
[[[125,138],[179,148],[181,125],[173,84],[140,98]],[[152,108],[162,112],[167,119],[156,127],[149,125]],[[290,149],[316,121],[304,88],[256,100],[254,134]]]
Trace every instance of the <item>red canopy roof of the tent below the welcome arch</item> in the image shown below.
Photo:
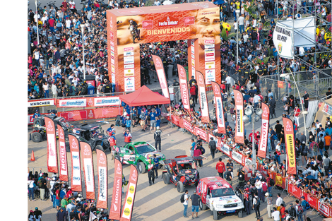
[[[127,95],[120,95],[120,100],[131,107],[154,104],[170,104],[170,99],[153,92],[146,85]]]

